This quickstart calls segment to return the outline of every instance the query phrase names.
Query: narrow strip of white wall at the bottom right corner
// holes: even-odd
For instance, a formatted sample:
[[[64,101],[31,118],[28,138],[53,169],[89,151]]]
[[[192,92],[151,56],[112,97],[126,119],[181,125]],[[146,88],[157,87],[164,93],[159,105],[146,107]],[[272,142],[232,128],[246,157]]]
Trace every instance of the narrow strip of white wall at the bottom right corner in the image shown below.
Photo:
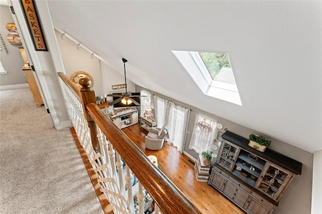
[[[314,152],[313,158],[313,188],[312,188],[312,214],[322,213],[322,150]]]

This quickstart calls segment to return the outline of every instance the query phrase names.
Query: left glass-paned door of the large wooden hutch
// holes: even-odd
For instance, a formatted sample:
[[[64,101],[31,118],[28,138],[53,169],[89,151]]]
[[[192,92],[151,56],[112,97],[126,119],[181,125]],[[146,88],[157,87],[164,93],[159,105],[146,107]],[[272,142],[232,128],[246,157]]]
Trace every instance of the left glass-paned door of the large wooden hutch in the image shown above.
[[[223,140],[220,145],[217,163],[223,168],[231,171],[232,167],[234,166],[235,157],[238,154],[238,152],[238,147]]]

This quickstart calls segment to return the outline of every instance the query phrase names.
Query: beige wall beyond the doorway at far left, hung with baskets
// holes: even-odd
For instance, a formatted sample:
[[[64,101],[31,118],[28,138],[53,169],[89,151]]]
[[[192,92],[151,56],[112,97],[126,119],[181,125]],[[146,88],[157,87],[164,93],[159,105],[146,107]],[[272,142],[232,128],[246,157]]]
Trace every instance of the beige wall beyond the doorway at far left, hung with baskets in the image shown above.
[[[24,61],[19,49],[8,42],[9,31],[6,28],[7,23],[15,23],[11,11],[8,6],[0,5],[0,33],[9,53],[6,53],[4,47],[0,51],[0,60],[5,70],[8,71],[8,74],[0,75],[0,85],[24,84],[27,83],[22,71]]]

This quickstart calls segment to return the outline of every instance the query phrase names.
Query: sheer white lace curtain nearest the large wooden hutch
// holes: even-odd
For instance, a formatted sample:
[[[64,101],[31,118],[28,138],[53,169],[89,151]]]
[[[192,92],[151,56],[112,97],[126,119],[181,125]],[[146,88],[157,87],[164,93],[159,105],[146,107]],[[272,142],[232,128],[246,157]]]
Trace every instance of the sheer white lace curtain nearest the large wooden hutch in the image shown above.
[[[189,145],[198,154],[204,151],[214,151],[213,139],[216,133],[216,122],[196,115],[195,125]]]

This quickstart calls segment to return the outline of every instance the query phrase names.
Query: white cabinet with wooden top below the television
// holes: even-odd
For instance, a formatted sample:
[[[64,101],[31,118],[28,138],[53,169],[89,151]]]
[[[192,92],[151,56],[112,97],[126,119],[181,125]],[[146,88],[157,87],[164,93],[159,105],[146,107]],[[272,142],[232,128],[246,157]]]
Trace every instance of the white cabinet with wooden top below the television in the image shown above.
[[[124,129],[138,123],[138,113],[136,109],[121,111],[116,115],[110,116],[110,118],[119,129]]]

